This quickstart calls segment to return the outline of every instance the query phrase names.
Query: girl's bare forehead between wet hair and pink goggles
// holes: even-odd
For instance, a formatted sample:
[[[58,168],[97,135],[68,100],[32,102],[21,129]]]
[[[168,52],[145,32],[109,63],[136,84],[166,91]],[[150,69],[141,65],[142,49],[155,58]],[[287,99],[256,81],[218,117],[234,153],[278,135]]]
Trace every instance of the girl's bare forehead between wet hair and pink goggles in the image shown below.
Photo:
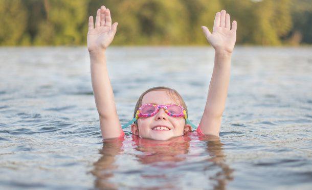
[[[177,100],[174,100],[173,97],[169,95],[169,92],[167,90],[155,90],[155,91],[147,92],[144,95],[142,99],[142,104],[155,103],[159,105],[166,105],[166,104],[179,104],[180,105],[180,102]]]

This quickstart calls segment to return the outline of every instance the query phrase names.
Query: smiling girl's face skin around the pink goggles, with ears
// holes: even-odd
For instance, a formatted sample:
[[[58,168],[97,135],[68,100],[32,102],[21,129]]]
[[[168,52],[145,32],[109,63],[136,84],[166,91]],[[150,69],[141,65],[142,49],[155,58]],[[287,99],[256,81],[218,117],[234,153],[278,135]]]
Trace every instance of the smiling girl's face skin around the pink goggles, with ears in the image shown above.
[[[143,104],[178,104],[165,90],[150,91],[146,93],[142,99]],[[169,130],[154,130],[155,126],[166,126]],[[155,140],[167,140],[175,136],[182,136],[184,131],[190,131],[191,126],[186,125],[183,117],[171,117],[167,115],[165,110],[161,108],[157,114],[151,117],[139,117],[138,126],[132,124],[131,130],[133,134],[140,135],[142,138],[150,138]]]

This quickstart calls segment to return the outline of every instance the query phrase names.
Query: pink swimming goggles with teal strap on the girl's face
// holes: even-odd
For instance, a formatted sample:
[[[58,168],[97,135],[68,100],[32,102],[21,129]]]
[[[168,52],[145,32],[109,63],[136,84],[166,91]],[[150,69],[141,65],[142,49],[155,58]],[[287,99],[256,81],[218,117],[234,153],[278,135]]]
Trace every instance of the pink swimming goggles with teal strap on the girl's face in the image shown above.
[[[128,127],[133,122],[137,121],[139,117],[151,117],[159,112],[161,108],[164,108],[167,115],[171,117],[184,117],[187,124],[190,124],[194,129],[197,127],[192,124],[184,108],[177,104],[168,104],[168,105],[155,105],[155,104],[143,104],[137,111],[136,117],[133,118],[130,122],[122,126],[122,129]]]

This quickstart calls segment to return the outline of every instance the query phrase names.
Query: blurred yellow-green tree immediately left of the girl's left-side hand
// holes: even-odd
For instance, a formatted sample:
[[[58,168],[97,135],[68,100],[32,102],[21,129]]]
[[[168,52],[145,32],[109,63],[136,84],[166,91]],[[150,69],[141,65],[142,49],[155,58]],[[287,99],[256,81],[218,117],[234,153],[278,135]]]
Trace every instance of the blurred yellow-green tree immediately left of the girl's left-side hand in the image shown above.
[[[86,33],[88,1],[45,0],[47,20],[39,25],[35,44],[78,45]]]

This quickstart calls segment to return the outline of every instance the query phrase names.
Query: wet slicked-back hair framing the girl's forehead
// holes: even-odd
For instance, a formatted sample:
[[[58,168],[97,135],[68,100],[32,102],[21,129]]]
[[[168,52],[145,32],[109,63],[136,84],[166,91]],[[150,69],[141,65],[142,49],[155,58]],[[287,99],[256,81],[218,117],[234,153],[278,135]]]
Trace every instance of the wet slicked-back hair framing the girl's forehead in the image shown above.
[[[145,92],[143,92],[140,96],[140,98],[138,99],[138,102],[136,104],[136,107],[135,107],[135,112],[133,113],[133,117],[136,117],[136,113],[138,111],[138,109],[141,107],[142,105],[142,99],[144,97],[145,94],[147,94],[148,92],[150,91],[159,91],[159,90],[163,90],[163,91],[166,91],[168,93],[168,96],[170,98],[172,98],[174,101],[176,101],[177,103],[180,104],[180,106],[182,106],[184,108],[184,110],[187,112],[187,107],[186,107],[186,104],[182,98],[182,96],[180,95],[179,92],[177,92],[175,89],[173,88],[169,88],[169,87],[165,87],[165,86],[157,86],[157,87],[153,87],[153,88],[149,88],[147,89]],[[138,120],[135,122],[136,125],[138,125]]]

